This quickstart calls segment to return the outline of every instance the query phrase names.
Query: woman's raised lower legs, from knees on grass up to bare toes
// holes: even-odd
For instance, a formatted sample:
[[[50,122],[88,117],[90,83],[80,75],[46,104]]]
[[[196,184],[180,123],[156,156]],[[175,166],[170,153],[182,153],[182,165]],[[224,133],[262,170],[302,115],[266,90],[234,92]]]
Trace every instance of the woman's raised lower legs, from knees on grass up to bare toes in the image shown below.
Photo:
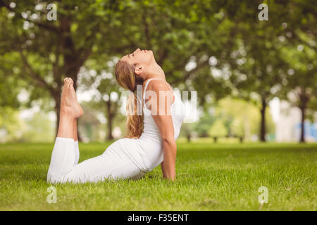
[[[77,136],[77,124],[75,120],[82,116],[82,108],[77,102],[73,80],[64,79],[63,91],[61,94],[61,113],[51,164],[47,174],[48,181],[56,181],[61,176],[68,174],[76,162],[76,150],[74,139]],[[75,134],[76,133],[76,134]],[[79,156],[79,154],[78,154]]]

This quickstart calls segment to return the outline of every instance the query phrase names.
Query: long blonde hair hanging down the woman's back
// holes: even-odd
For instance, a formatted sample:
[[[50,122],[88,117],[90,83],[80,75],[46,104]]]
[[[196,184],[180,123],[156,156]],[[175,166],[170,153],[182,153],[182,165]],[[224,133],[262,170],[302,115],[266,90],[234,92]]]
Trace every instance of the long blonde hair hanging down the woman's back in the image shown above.
[[[135,74],[135,67],[130,63],[119,60],[116,63],[115,75],[117,82],[124,89],[132,91],[127,103],[127,135],[130,139],[138,139],[143,131],[143,114],[137,115],[137,85],[143,84],[143,79]]]

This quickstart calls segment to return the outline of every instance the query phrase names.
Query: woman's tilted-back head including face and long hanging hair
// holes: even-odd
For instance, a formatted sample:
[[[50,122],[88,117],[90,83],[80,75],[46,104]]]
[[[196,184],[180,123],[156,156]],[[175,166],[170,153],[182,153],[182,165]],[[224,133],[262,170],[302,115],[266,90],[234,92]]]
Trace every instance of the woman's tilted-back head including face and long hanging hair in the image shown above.
[[[124,89],[132,91],[127,103],[128,138],[139,138],[143,129],[143,116],[137,115],[137,85],[142,85],[146,75],[155,62],[153,52],[137,49],[123,56],[115,68],[117,82]]]

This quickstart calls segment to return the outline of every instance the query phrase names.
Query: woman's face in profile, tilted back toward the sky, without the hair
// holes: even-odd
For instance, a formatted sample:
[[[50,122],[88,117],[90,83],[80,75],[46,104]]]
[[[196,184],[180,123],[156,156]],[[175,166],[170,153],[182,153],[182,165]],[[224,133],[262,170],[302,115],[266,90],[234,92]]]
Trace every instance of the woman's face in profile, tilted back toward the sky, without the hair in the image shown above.
[[[140,49],[137,49],[134,52],[123,56],[121,60],[125,60],[132,65],[142,65],[145,68],[147,68],[147,66],[151,65],[155,61],[153,52],[151,50],[148,51]]]

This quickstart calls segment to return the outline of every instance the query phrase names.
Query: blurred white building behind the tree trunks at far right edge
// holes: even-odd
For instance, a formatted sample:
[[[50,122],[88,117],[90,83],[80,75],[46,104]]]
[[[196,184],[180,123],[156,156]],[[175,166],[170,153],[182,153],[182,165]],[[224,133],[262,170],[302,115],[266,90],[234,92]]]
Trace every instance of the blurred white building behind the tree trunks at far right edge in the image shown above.
[[[279,101],[278,118],[275,120],[275,140],[277,142],[297,142],[301,134],[301,111],[287,101]],[[305,140],[317,142],[317,122],[305,122]]]

